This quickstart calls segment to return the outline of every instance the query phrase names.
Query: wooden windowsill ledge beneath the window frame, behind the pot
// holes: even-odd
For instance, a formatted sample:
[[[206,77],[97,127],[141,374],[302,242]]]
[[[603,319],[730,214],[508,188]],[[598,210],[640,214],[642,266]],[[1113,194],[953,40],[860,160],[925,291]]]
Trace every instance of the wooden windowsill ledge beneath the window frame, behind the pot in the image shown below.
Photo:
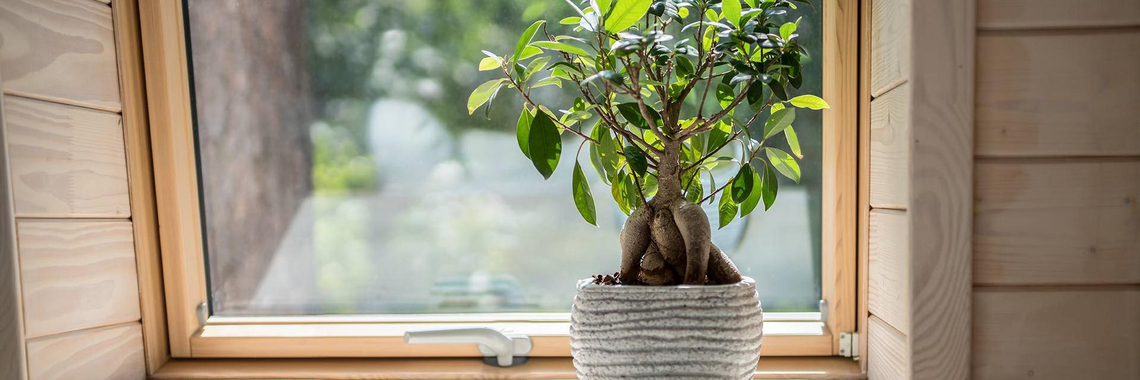
[[[573,379],[565,357],[496,367],[478,358],[172,359],[152,379]],[[760,359],[756,379],[866,379],[846,357]]]

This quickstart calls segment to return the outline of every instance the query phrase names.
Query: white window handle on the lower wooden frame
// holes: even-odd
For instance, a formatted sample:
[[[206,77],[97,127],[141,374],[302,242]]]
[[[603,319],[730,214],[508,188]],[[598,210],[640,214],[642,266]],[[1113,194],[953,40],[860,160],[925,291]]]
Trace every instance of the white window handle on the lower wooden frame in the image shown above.
[[[408,331],[404,333],[404,342],[477,343],[480,353],[498,358],[498,366],[514,365],[514,357],[526,357],[531,348],[530,337],[490,328]]]

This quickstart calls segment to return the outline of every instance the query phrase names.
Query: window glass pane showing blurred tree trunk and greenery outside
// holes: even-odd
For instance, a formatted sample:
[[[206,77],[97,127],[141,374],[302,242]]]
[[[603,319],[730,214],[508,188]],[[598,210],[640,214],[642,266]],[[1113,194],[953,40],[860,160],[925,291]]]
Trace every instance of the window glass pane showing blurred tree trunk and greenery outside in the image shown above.
[[[564,137],[544,180],[515,142],[515,92],[489,119],[466,110],[497,78],[478,71],[481,49],[511,51],[535,19],[556,32],[571,11],[563,0],[188,0],[212,313],[565,313],[577,280],[617,270],[625,216],[586,156],[598,227],[570,195],[580,140]],[[799,92],[819,95],[821,11],[800,13],[812,58]],[[535,94],[563,107],[573,95]],[[781,178],[772,210],[714,232],[767,312],[819,310],[820,126],[819,112],[798,113],[803,183]]]

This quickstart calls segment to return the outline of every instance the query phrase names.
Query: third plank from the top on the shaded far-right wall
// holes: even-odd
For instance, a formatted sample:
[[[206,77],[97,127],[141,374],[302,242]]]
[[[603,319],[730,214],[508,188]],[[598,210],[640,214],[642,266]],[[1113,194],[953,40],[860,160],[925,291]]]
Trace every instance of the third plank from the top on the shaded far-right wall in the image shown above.
[[[980,161],[975,172],[975,283],[1140,283],[1140,160]]]

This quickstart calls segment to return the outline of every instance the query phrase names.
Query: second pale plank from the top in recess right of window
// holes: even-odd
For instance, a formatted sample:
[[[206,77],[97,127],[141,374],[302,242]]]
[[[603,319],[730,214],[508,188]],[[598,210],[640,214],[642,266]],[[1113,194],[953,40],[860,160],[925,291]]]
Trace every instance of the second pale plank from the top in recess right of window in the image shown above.
[[[910,197],[911,87],[871,100],[871,207],[905,210]]]

